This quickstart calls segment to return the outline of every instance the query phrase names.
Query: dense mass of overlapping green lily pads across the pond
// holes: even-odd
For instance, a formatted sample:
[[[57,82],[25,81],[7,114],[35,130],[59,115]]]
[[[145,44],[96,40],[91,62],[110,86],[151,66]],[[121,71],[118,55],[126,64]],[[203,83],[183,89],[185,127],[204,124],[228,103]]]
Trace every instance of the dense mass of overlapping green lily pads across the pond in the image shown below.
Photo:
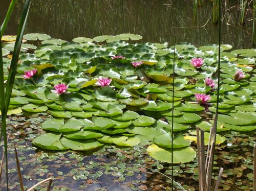
[[[183,133],[195,127],[208,131],[212,126],[217,91],[205,79],[217,81],[218,45],[196,47],[184,42],[174,49],[167,43],[132,43],[141,39],[134,34],[78,37],[73,42],[45,34],[24,38],[40,45],[24,43],[9,113],[21,108],[53,117],[41,124],[46,134],[32,141],[35,146],[86,151],[108,144],[150,145],[147,151],[152,157],[170,162],[173,141],[175,163],[195,158],[196,152],[189,147],[195,133]],[[221,46],[218,131],[252,131],[256,129],[256,51],[227,52],[231,48]],[[4,49],[7,77],[12,43],[4,43]],[[204,59],[204,64],[195,68],[190,63],[193,58]],[[24,77],[35,69],[35,74]],[[245,77],[234,81],[239,69]],[[100,78],[111,83],[100,86]],[[60,83],[68,86],[65,93],[54,90]],[[195,93],[210,95],[210,105],[195,103]],[[221,136],[219,140],[225,141]]]

